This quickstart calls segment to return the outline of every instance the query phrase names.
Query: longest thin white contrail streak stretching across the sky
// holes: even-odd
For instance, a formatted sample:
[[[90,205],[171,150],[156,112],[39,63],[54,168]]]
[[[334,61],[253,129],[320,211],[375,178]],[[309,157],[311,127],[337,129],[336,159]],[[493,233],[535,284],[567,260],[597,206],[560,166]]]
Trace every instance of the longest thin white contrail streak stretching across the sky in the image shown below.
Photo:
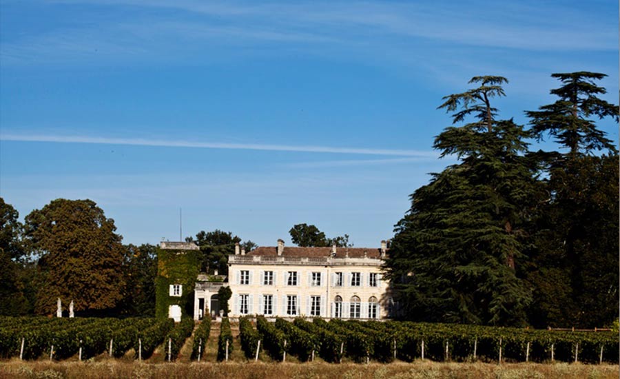
[[[152,147],[189,147],[202,149],[228,149],[228,150],[265,150],[273,152],[311,152],[331,154],[358,154],[358,155],[383,155],[383,156],[415,156],[425,158],[437,158],[438,154],[423,150],[391,150],[391,149],[368,149],[364,147],[333,147],[333,146],[304,146],[304,145],[266,145],[259,143],[221,143],[221,142],[196,142],[174,141],[158,139],[138,138],[108,138],[96,136],[51,136],[51,135],[21,135],[0,134],[0,141],[21,142],[48,142],[48,143],[92,143],[99,145],[132,145]]]

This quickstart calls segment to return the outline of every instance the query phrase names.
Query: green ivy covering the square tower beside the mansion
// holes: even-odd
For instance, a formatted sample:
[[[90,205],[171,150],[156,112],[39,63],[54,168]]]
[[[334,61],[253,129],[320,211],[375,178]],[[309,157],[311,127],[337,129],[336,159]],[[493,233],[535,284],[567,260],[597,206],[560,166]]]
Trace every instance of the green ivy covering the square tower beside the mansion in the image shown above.
[[[179,305],[183,316],[193,316],[194,286],[200,271],[200,250],[158,249],[155,278],[155,316],[167,318],[170,305]],[[170,285],[183,286],[180,297],[170,296]]]

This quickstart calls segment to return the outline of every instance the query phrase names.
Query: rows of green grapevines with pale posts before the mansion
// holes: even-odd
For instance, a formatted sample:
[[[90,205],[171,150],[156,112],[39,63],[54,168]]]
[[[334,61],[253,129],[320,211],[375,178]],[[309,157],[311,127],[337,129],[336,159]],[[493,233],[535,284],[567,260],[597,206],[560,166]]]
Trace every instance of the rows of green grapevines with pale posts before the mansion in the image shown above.
[[[172,361],[187,344],[187,359],[204,362],[210,340],[218,361],[619,362],[619,338],[609,331],[319,318],[270,322],[260,316],[238,323],[225,318],[214,328],[210,320],[195,327],[191,318],[176,325],[155,318],[0,318],[0,358],[146,360],[160,347]]]

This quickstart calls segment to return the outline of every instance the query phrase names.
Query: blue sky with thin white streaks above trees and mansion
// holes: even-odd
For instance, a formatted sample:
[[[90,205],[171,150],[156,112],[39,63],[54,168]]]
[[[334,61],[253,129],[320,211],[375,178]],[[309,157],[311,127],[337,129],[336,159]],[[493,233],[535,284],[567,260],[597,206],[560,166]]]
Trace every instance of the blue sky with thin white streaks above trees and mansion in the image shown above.
[[[0,1],[0,196],[91,198],[125,243],[296,223],[378,246],[450,159],[436,110],[506,76],[502,118],[552,72],[608,74],[615,1]],[[617,125],[601,122],[618,141]]]

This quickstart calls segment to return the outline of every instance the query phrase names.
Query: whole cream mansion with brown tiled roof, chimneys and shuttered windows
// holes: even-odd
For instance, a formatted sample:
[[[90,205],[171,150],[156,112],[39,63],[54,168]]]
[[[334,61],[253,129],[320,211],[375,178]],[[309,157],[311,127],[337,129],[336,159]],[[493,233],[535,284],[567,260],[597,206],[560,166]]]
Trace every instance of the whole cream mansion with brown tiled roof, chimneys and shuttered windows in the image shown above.
[[[229,257],[232,317],[388,316],[392,300],[382,276],[386,243],[352,247],[258,247]]]

